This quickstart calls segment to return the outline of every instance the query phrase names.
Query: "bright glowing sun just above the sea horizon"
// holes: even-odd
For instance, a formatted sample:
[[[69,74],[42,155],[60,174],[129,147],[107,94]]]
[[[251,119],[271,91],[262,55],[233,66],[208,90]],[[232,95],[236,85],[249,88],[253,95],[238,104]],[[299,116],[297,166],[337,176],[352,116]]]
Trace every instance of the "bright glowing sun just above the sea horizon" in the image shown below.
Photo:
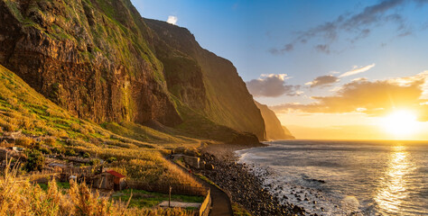
[[[407,137],[418,130],[417,116],[409,110],[398,110],[382,119],[382,127],[395,137]]]

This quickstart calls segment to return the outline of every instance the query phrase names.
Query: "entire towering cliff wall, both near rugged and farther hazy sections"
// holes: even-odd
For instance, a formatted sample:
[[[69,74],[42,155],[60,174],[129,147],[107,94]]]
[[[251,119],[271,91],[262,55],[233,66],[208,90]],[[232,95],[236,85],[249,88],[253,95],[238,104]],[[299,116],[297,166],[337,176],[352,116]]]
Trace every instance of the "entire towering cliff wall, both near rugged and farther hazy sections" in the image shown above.
[[[193,134],[198,128],[190,122],[198,121],[265,138],[260,112],[235,67],[201,49],[188,31],[186,37],[174,33],[173,41],[191,46],[172,46],[129,0],[0,0],[0,14],[0,64],[81,118],[160,122]]]

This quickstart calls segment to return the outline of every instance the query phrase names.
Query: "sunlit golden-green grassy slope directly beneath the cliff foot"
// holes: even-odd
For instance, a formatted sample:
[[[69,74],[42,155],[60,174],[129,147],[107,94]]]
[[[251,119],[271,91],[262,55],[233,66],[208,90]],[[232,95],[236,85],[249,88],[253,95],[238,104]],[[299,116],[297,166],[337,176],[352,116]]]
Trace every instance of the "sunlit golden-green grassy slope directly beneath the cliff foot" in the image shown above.
[[[163,157],[166,150],[161,146],[117,136],[73,116],[0,65],[0,136],[17,130],[22,130],[23,137],[15,144],[30,150],[57,153],[72,150],[104,160],[114,157],[117,162],[106,166],[117,167],[116,170],[130,179],[147,184],[200,185],[172,166]],[[158,143],[189,142],[161,132],[152,139]],[[196,144],[199,142],[194,141],[193,145]]]

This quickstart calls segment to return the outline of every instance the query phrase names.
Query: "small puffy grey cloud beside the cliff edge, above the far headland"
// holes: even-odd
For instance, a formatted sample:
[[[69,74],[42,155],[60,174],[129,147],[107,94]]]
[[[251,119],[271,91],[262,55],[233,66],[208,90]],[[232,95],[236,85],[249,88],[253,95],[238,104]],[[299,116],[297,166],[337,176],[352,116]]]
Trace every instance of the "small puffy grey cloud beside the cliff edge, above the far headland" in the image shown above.
[[[248,91],[255,97],[278,97],[283,94],[297,95],[300,85],[286,85],[286,74],[263,74],[247,82]]]

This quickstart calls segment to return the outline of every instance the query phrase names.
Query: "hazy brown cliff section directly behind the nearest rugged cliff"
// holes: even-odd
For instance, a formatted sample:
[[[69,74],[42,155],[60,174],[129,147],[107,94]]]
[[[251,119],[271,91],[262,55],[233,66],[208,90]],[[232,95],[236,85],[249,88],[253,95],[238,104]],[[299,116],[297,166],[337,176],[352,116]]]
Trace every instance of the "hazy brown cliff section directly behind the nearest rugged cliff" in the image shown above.
[[[230,61],[200,48],[187,29],[144,20],[154,31],[155,56],[165,67],[172,94],[209,120],[265,139],[265,123]]]

